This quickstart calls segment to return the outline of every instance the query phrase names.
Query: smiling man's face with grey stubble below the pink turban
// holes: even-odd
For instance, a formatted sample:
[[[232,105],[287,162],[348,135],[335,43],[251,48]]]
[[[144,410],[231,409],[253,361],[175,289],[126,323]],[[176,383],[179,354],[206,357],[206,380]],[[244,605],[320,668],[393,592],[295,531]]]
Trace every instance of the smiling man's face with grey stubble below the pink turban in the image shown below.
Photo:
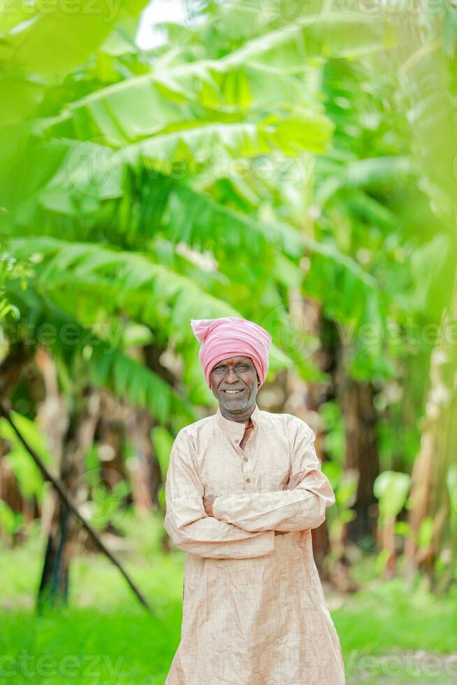
[[[251,405],[260,385],[249,356],[231,356],[219,361],[211,370],[210,383],[219,406],[229,411]]]

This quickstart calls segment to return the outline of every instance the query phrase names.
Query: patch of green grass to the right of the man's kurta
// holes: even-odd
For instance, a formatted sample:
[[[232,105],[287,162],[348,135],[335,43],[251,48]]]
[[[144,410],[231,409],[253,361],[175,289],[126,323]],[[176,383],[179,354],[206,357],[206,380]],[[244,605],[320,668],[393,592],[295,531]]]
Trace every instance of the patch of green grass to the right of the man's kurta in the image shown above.
[[[457,593],[436,598],[401,579],[370,585],[332,614],[348,682],[457,682]]]

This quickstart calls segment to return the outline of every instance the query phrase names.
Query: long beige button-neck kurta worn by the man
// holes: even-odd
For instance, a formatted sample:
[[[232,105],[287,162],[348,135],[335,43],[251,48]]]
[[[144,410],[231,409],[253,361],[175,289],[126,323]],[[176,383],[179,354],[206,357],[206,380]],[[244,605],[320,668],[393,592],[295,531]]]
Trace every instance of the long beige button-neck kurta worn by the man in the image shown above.
[[[335,502],[314,433],[256,406],[182,428],[166,478],[165,528],[187,552],[181,641],[166,685],[340,685],[340,641],[324,603],[311,528]],[[284,489],[301,473],[294,489]],[[214,517],[203,496],[216,494]],[[285,535],[275,531],[287,531]]]

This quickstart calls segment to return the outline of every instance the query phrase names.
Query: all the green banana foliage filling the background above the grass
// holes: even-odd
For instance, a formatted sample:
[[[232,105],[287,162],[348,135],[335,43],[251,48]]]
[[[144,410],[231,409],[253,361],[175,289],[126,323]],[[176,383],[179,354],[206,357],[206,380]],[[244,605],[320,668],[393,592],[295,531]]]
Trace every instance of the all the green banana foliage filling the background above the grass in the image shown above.
[[[31,333],[64,391],[87,380],[147,408],[164,477],[173,435],[215,404],[189,320],[253,319],[273,336],[269,380],[288,368],[317,384],[333,369],[293,318],[294,300],[312,299],[344,373],[378,391],[385,519],[406,498],[393,472],[417,452],[435,345],[412,332],[440,321],[455,272],[455,27],[445,12],[405,38],[402,22],[337,4],[198,3],[198,21],[167,24],[165,45],[144,52],[142,0],[89,13],[10,3],[0,319],[4,351]],[[173,371],[147,366],[146,346]],[[338,406],[321,415],[338,540],[357,482]],[[17,445],[8,460],[38,494]],[[94,494],[103,521],[125,494]],[[421,544],[430,535],[426,520]]]

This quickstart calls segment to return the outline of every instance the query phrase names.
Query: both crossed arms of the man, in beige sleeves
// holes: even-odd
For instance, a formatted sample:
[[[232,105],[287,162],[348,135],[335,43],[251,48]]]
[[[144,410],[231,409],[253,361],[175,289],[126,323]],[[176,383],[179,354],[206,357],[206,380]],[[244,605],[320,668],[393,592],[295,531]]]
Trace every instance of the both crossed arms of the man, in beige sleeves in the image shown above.
[[[208,515],[211,502],[204,502],[203,496],[189,447],[178,435],[168,466],[164,526],[175,545],[190,554],[210,558],[273,554],[275,533],[317,528],[326,517],[326,507],[335,502],[317,459],[314,433],[303,421],[297,421],[285,490],[216,496],[212,515]]]

